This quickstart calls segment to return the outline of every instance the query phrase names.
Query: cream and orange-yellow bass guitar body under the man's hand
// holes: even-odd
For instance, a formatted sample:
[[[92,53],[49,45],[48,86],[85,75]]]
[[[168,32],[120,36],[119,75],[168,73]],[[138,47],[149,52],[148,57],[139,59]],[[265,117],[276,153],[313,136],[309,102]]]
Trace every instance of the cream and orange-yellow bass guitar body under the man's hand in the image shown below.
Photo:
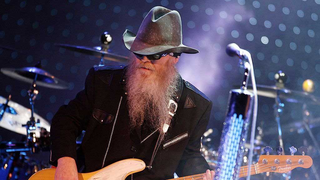
[[[79,180],[124,180],[127,176],[142,171],[146,164],[139,159],[126,159],[110,164],[91,173],[78,173]],[[54,180],[56,168],[43,169],[32,175],[29,180]]]

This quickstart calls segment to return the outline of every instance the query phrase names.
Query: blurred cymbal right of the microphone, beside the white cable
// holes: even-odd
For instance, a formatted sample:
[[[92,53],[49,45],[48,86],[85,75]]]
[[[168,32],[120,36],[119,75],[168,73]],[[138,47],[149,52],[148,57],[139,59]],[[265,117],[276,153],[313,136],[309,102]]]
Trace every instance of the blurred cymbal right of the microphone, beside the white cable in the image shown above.
[[[253,92],[252,86],[248,86],[247,90]],[[269,98],[276,98],[278,93],[279,98],[284,99],[287,102],[313,103],[320,105],[320,98],[304,91],[295,91],[276,86],[257,85],[257,93],[260,96]]]

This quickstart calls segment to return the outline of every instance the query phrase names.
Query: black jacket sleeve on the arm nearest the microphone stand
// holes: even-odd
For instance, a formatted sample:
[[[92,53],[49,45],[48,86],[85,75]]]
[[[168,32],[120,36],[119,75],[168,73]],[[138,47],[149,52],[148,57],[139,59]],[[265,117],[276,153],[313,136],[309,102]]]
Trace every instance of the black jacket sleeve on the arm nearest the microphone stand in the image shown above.
[[[176,174],[179,177],[190,176],[200,173],[205,173],[210,169],[207,161],[200,153],[201,137],[208,125],[211,114],[212,102],[208,105],[198,124],[194,128],[194,132],[190,137],[186,149],[183,152],[182,158],[179,162]]]

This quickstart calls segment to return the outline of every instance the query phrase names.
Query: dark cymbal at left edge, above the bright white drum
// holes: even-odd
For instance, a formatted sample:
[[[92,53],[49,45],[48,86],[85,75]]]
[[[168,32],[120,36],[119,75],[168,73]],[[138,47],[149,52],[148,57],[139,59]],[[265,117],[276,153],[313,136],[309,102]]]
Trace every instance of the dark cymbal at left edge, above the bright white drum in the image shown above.
[[[54,77],[47,71],[40,68],[36,68],[36,67],[25,67],[20,69],[1,68],[1,72],[11,78],[15,78],[30,84],[33,82],[37,74],[36,85],[38,86],[49,87],[53,89],[69,88],[69,85],[67,82],[62,81]]]

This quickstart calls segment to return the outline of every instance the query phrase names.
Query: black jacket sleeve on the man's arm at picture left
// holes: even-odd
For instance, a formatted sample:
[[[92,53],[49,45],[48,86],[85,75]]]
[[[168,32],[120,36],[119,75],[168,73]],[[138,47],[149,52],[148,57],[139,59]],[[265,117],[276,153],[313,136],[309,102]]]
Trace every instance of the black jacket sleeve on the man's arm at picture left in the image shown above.
[[[62,105],[52,118],[50,128],[50,164],[57,166],[58,159],[71,157],[76,160],[76,137],[85,129],[93,107],[94,68],[89,70],[84,90],[68,105]]]

